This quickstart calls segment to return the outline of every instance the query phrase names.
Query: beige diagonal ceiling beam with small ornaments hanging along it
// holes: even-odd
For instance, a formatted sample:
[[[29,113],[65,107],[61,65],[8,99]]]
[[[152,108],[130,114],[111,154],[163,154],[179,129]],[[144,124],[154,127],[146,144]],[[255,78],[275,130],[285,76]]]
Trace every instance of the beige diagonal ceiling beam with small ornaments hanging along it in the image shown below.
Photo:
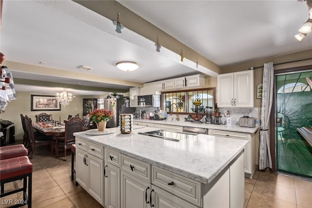
[[[222,72],[222,67],[218,66],[217,64],[207,59],[206,57],[203,57],[202,55],[198,54],[196,51],[184,45],[176,38],[160,30],[152,23],[141,18],[140,16],[138,16],[128,8],[124,7],[116,0],[73,0],[73,1],[112,21],[117,20],[117,14],[119,13],[120,14],[119,21],[120,23],[123,24],[124,27],[155,43],[157,42],[157,37],[159,37],[161,40],[161,46],[167,48],[168,50],[178,55],[181,54],[182,49],[183,56],[193,61],[194,65],[195,62],[198,60],[198,63],[201,66],[207,68],[207,71],[212,71],[212,73],[206,73],[207,75],[216,76],[217,74],[221,74]],[[203,71],[200,72],[204,73]]]

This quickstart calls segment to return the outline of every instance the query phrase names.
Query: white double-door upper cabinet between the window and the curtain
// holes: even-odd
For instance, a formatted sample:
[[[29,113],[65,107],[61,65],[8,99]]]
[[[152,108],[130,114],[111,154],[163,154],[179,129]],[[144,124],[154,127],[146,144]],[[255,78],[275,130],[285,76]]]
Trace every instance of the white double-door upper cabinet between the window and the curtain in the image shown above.
[[[218,75],[218,107],[254,107],[254,71]]]

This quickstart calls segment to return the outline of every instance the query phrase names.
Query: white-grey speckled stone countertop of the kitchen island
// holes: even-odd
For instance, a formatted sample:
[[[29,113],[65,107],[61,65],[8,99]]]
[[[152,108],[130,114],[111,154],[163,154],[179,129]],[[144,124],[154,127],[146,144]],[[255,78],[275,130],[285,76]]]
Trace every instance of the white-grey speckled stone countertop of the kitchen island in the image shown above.
[[[137,127],[136,127],[137,128]],[[201,183],[210,183],[247,145],[247,140],[192,135],[179,142],[137,134],[156,128],[140,127],[129,134],[87,135],[76,132],[80,139],[93,142],[156,167],[172,171]]]

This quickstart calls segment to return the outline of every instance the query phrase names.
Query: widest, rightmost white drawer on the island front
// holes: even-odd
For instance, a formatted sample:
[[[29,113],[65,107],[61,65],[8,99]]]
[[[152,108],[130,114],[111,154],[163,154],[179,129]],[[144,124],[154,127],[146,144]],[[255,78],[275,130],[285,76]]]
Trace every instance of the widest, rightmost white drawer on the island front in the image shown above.
[[[152,166],[152,184],[199,207],[202,206],[201,183]]]

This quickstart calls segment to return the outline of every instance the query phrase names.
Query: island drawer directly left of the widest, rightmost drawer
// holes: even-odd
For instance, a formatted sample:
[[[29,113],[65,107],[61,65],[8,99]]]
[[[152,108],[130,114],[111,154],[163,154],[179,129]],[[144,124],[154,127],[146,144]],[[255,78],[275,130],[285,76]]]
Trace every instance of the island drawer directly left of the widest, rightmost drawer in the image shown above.
[[[135,158],[121,155],[121,169],[151,183],[151,165]]]

